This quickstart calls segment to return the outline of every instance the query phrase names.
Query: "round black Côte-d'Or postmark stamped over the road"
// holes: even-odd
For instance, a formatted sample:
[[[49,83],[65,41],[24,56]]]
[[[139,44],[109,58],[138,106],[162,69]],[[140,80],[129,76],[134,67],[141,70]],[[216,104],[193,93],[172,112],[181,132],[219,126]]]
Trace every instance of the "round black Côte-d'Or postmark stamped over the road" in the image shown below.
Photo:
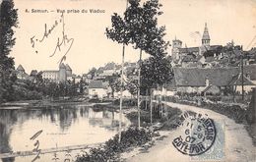
[[[209,150],[216,139],[216,127],[207,115],[186,112],[179,118],[177,125],[180,135],[176,136],[172,144],[183,154],[200,155]]]

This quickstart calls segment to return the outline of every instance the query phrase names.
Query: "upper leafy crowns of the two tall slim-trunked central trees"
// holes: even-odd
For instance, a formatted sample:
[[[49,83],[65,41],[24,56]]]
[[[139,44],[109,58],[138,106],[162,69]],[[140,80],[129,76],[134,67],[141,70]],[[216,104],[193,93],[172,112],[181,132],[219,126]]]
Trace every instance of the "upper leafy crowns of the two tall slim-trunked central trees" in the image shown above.
[[[158,27],[158,16],[162,14],[159,0],[146,1],[140,6],[140,0],[129,0],[130,6],[124,18],[114,13],[111,17],[112,27],[106,27],[107,38],[118,43],[134,44],[146,53],[163,56],[168,42],[163,40],[165,27]]]

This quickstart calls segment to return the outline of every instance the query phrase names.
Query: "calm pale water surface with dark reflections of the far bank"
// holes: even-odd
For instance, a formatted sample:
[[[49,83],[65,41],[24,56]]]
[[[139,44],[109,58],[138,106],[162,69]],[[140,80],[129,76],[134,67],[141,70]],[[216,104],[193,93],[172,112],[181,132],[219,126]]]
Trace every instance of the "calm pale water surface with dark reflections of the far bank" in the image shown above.
[[[32,150],[30,137],[39,130],[41,149],[103,142],[117,133],[118,118],[114,111],[86,106],[0,109],[0,153]]]

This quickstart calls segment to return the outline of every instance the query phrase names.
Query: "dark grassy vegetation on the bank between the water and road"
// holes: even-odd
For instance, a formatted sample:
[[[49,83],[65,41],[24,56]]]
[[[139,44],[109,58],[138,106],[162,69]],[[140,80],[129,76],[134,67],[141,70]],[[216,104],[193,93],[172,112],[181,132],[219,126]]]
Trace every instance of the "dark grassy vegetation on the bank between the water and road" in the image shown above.
[[[128,102],[127,102],[128,103]],[[129,102],[132,103],[132,102]],[[138,129],[138,112],[134,109],[135,105],[125,104],[123,106],[125,116],[131,121],[132,126],[121,134],[121,141],[118,142],[119,136],[115,135],[111,139],[107,140],[102,146],[92,148],[86,154],[77,158],[77,162],[87,162],[87,161],[118,161],[120,160],[120,154],[123,152],[130,151],[134,147],[143,146],[154,137],[154,133],[151,129],[150,111],[146,110],[142,106],[141,110],[141,123],[142,129]],[[156,105],[157,106],[157,105]],[[104,108],[104,109],[119,109],[119,104],[113,102],[107,106],[105,105],[95,105],[94,108]],[[160,130],[172,130],[176,128],[176,120],[180,117],[181,111],[177,108],[166,107],[164,116],[160,117],[160,112],[154,111],[153,113],[153,123],[162,123],[163,127]]]

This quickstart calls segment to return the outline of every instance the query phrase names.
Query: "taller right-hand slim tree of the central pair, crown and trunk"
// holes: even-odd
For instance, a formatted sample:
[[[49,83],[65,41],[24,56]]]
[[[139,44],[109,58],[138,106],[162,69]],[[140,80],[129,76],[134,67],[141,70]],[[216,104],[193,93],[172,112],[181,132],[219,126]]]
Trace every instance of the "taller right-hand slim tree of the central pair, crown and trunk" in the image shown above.
[[[141,63],[142,52],[162,58],[166,54],[168,42],[163,40],[165,27],[159,27],[158,16],[161,4],[159,0],[148,0],[140,6],[140,0],[131,0],[130,7],[125,12],[125,21],[129,27],[129,33],[135,49],[140,49],[138,71],[138,126],[140,128],[140,87],[141,87]]]

